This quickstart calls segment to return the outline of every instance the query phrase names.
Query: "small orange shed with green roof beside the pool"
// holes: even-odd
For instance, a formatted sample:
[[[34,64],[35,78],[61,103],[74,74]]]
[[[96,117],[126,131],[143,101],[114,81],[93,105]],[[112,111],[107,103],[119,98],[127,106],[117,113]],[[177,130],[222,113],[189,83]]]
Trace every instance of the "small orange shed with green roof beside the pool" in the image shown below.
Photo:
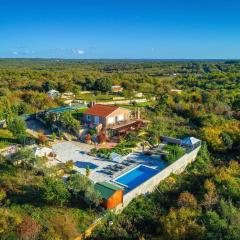
[[[101,205],[105,209],[113,209],[123,203],[123,189],[109,182],[99,182],[95,184],[95,189],[102,196]]]

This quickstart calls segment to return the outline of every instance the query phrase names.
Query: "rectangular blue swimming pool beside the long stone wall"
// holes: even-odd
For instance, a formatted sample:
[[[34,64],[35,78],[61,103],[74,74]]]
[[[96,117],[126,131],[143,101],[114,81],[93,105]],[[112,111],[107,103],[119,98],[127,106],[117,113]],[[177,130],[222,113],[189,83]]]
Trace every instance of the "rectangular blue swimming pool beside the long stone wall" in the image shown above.
[[[157,173],[159,173],[159,170],[139,165],[112,181],[128,189],[134,189]]]

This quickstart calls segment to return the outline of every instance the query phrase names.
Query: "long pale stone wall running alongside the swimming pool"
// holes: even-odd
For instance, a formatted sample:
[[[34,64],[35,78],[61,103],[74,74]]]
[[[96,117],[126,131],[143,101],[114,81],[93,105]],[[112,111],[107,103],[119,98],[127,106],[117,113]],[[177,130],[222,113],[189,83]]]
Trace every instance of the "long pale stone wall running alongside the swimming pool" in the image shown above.
[[[172,163],[171,165],[163,169],[161,172],[159,172],[155,176],[151,177],[149,180],[139,185],[137,188],[126,193],[123,196],[123,204],[119,205],[116,210],[121,211],[132,201],[133,198],[137,197],[138,195],[153,192],[156,186],[172,173],[179,174],[183,172],[186,166],[192,163],[196,159],[197,153],[200,150],[200,147],[194,149],[190,153],[186,153],[183,157],[179,158],[177,161],[175,161],[174,163]]]

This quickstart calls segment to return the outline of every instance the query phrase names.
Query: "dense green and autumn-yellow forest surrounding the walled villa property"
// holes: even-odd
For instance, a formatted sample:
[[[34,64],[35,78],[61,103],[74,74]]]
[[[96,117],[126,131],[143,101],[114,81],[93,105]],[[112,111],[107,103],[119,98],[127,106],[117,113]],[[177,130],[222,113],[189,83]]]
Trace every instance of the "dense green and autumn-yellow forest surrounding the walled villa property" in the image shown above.
[[[149,99],[139,107],[151,122],[146,131],[152,142],[161,135],[191,135],[203,146],[184,173],[168,177],[121,214],[107,213],[91,238],[240,239],[240,61],[2,59],[0,120],[11,124],[8,131],[0,129],[0,146],[22,142],[20,116],[63,105],[46,94],[49,90],[71,91],[80,98],[81,91],[108,95],[112,85],[123,87],[120,96],[141,92]],[[1,157],[1,239],[71,239],[81,219],[95,217],[91,208],[68,201],[60,183],[66,201],[47,201],[44,189],[55,183],[50,175],[49,180],[36,173],[29,164],[12,166]],[[35,230],[25,234],[30,238],[21,235],[25,225]],[[43,228],[46,234],[37,234]]]

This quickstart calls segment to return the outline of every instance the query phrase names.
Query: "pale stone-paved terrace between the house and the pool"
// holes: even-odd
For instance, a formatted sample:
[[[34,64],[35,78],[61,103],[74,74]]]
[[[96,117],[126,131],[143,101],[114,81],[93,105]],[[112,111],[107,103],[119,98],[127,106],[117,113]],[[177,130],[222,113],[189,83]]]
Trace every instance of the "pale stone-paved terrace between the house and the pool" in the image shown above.
[[[108,159],[89,156],[87,153],[93,148],[92,145],[80,142],[61,142],[53,145],[53,151],[57,159],[63,163],[73,160],[74,169],[81,174],[86,174],[86,167],[90,167],[90,179],[94,182],[108,181],[131,168],[144,164],[156,169],[163,169],[166,165],[159,156],[146,156],[141,152],[134,152],[116,162]],[[127,163],[127,164],[123,164]],[[116,168],[118,166],[119,168]],[[112,168],[114,171],[112,171]],[[113,174],[109,174],[109,170]]]

